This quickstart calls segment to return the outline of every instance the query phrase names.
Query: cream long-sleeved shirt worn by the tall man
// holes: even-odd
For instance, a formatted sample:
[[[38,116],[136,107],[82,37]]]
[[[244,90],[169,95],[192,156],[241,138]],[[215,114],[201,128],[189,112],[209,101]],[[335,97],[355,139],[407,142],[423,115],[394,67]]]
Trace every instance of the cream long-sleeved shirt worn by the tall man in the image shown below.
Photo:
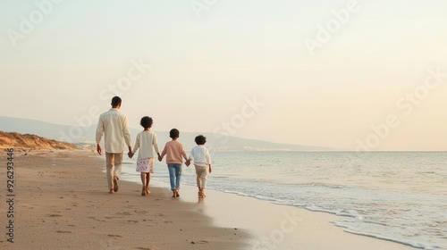
[[[106,153],[119,154],[123,152],[124,142],[131,146],[131,134],[129,133],[129,123],[125,114],[116,108],[99,115],[97,122],[97,144],[104,136],[104,146]]]

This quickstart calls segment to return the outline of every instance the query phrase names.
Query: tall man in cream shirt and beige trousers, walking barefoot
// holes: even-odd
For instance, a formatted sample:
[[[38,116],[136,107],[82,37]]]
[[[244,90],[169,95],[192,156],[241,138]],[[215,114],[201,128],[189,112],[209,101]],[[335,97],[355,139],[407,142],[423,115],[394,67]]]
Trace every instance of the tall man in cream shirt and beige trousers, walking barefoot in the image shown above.
[[[118,180],[121,175],[122,154],[124,142],[131,149],[131,134],[129,133],[129,122],[125,114],[120,112],[122,100],[118,96],[112,98],[112,108],[101,113],[97,122],[97,154],[101,155],[101,137],[104,135],[105,146],[105,169],[109,194],[118,191]]]

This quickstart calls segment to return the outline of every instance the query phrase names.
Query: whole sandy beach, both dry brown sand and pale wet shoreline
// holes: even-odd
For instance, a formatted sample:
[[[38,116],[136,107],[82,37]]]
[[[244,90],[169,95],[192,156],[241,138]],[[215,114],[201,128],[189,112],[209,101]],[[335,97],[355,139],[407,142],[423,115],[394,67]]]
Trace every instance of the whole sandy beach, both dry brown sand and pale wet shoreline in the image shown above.
[[[344,232],[330,222],[341,219],[333,214],[214,190],[200,200],[186,185],[173,199],[167,183],[153,180],[152,193],[141,196],[140,185],[122,176],[118,193],[109,195],[105,162],[92,152],[14,157],[14,243],[6,241],[2,191],[0,249],[415,249]]]

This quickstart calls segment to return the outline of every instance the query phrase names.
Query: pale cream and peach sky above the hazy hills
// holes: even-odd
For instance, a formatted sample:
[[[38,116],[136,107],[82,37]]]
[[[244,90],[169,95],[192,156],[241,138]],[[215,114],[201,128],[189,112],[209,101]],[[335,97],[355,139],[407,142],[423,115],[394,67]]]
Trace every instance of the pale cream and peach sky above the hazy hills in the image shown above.
[[[0,116],[89,125],[118,95],[135,129],[149,115],[159,131],[444,151],[446,11],[443,0],[0,0]]]

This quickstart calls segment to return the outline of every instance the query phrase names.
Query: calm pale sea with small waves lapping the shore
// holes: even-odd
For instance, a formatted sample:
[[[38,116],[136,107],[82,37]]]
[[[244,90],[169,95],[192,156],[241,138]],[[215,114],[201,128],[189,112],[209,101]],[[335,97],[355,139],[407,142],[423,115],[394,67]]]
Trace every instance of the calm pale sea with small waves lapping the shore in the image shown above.
[[[350,233],[447,249],[447,153],[214,152],[211,157],[208,188],[341,215],[333,223]],[[135,173],[133,165],[127,171]],[[153,178],[169,181],[164,162],[156,162]],[[195,185],[194,171],[183,171],[181,183]]]

